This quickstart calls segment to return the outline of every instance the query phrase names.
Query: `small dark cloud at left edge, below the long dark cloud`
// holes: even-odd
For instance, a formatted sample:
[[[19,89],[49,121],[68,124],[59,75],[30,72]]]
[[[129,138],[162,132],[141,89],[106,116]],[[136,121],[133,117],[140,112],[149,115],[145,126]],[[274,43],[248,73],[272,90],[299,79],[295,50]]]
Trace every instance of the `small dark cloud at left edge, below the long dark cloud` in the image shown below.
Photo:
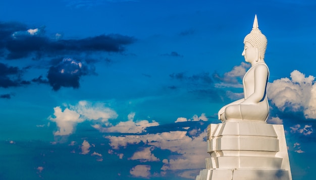
[[[0,87],[9,88],[30,84],[21,80],[22,71],[18,67],[11,67],[0,63]]]

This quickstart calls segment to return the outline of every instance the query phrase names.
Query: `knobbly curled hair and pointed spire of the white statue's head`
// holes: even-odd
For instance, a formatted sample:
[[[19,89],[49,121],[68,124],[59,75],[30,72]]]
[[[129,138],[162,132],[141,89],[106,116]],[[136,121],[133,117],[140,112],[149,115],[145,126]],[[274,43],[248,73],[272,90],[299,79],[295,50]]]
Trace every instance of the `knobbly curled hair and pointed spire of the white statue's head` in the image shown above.
[[[268,40],[267,37],[259,30],[257,15],[254,16],[252,30],[248,35],[246,35],[244,39],[244,43],[245,42],[249,42],[252,47],[258,48],[258,59],[265,58]]]

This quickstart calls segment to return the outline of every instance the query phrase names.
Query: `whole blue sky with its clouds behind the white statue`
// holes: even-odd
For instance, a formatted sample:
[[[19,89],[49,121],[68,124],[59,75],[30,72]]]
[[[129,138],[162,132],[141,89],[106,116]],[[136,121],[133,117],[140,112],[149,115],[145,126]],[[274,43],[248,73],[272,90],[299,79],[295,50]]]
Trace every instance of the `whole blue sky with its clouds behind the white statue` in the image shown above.
[[[0,179],[193,179],[268,38],[268,122],[293,179],[316,168],[313,1],[1,1]]]

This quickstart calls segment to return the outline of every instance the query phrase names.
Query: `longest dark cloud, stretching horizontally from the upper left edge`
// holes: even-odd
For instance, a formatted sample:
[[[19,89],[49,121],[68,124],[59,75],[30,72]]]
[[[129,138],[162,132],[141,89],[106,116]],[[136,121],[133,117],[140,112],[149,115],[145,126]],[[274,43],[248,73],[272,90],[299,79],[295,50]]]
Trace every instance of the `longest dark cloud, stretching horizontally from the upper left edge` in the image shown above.
[[[45,36],[45,27],[30,29],[19,23],[0,23],[0,52],[7,59],[69,53],[103,51],[123,52],[125,45],[135,42],[135,38],[120,34],[99,35],[83,39],[61,39]],[[59,35],[59,34],[57,34]]]

